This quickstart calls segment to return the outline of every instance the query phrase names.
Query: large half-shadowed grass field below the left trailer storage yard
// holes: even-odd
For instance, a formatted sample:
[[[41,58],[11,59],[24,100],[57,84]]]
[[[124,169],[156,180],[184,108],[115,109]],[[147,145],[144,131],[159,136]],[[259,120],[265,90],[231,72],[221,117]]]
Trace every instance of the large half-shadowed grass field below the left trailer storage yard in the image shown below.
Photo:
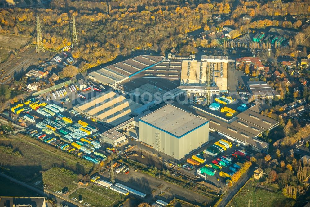
[[[70,163],[61,156],[29,145],[26,141],[0,136],[1,142],[7,145],[11,143],[13,147],[17,146],[23,154],[23,157],[20,158],[0,152],[2,171],[16,179],[24,180],[25,182],[31,182],[33,179],[42,180],[41,172],[55,165],[64,165],[72,169],[77,168],[75,163]]]

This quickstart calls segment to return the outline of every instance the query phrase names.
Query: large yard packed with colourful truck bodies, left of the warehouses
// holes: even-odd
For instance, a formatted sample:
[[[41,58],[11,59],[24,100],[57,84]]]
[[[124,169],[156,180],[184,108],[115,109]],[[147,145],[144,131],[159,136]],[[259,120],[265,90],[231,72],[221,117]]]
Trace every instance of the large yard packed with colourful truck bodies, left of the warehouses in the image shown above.
[[[98,130],[98,123],[94,122],[95,120],[83,118],[74,110],[67,111],[64,106],[51,101],[67,97],[64,101],[68,102],[70,100],[67,94],[78,90],[80,90],[78,85],[71,84],[53,91],[52,96],[47,96],[44,101],[41,97],[26,99],[24,103],[12,106],[11,112],[19,116],[20,123],[30,128],[27,132],[30,136],[99,164],[106,160],[106,157],[94,154],[100,148],[99,135],[102,133]],[[104,129],[103,126],[100,128]]]

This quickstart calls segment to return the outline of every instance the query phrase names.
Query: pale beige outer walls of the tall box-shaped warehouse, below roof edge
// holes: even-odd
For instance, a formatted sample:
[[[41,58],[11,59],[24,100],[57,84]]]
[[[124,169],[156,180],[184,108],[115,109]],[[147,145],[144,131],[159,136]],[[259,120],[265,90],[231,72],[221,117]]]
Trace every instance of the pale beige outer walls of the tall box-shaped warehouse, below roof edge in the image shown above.
[[[156,133],[159,133],[159,144],[156,144]],[[152,145],[155,150],[159,148],[159,151],[175,159],[181,159],[192,150],[198,149],[201,145],[209,141],[209,123],[181,138],[177,138],[139,121],[139,141]]]

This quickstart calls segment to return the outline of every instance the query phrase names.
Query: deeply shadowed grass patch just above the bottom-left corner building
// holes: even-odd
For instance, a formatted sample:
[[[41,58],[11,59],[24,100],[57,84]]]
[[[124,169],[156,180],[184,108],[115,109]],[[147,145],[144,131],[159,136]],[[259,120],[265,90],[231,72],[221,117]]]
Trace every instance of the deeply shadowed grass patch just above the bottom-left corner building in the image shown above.
[[[0,177],[0,195],[35,197],[37,196],[37,193],[27,188],[24,188],[23,186],[20,186],[4,177]]]

